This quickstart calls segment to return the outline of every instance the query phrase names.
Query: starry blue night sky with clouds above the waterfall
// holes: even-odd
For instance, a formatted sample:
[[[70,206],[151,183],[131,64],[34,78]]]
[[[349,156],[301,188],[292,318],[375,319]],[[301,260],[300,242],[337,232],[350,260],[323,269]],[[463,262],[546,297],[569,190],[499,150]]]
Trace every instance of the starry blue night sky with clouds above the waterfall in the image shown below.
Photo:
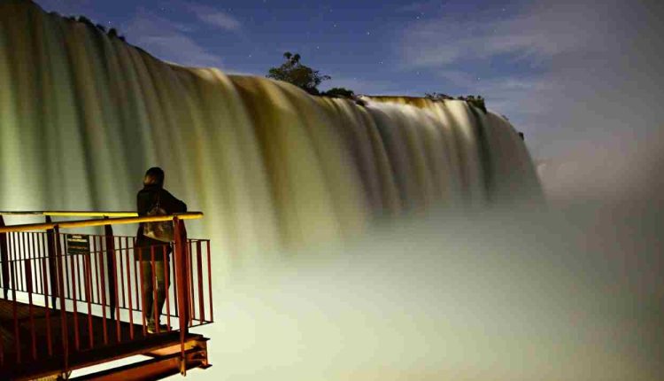
[[[659,128],[664,6],[654,0],[37,0],[186,66],[265,75],[284,51],[320,89],[480,94],[534,159]]]

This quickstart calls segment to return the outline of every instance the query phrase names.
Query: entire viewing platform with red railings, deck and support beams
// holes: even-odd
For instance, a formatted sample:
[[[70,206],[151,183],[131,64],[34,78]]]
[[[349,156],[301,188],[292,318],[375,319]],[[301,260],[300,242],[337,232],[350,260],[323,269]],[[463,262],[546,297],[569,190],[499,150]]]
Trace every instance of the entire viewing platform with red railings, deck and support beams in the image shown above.
[[[44,222],[6,225],[8,214],[42,216]],[[54,217],[89,219],[53,222]],[[212,323],[210,241],[188,238],[184,226],[184,220],[202,217],[0,212],[0,379],[159,379],[209,367],[209,338],[189,329]],[[143,284],[150,279],[135,260],[142,249],[135,247],[135,237],[113,235],[112,227],[164,221],[174,223],[174,242],[150,246],[148,262],[151,274],[158,267],[166,274],[160,313],[165,325],[150,333],[143,313]],[[76,232],[95,226],[104,234]],[[75,369],[138,354],[146,360],[71,377]]]

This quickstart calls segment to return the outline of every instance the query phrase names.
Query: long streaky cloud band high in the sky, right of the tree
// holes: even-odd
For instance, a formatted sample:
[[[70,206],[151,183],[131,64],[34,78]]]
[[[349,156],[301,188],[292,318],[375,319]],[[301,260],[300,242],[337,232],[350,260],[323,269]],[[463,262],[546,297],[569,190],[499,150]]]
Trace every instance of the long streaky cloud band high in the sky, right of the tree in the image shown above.
[[[402,40],[405,65],[410,67],[448,66],[498,55],[541,62],[552,56],[587,49],[602,37],[595,27],[589,34],[589,20],[572,9],[544,9],[513,16],[511,19],[459,20],[445,15],[415,23]]]

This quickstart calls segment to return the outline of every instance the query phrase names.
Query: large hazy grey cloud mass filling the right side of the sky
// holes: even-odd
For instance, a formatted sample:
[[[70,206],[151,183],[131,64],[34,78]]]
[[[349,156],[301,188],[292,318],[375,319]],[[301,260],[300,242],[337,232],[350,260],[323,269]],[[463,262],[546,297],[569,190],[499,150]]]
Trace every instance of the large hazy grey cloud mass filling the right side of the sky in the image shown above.
[[[664,97],[661,12],[664,4],[647,0],[540,0],[507,18],[444,15],[405,27],[400,69],[482,94],[525,132],[534,157],[553,157],[660,128],[652,110]]]

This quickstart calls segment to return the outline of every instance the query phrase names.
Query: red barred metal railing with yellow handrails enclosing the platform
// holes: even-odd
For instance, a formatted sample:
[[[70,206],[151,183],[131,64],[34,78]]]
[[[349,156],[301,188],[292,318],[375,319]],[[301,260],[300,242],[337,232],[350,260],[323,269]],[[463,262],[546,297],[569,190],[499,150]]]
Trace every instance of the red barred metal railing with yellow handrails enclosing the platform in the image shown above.
[[[5,226],[3,214],[41,214],[46,222]],[[81,214],[104,218],[50,220],[55,215]],[[112,216],[118,218],[109,218]],[[45,358],[59,359],[66,370],[73,354],[149,341],[172,331],[180,333],[184,357],[189,327],[212,323],[213,316],[210,241],[189,239],[183,223],[202,216],[0,212],[2,287],[5,306],[12,309],[12,318],[2,325],[8,332],[3,331],[0,337],[0,368],[10,362]],[[148,279],[140,261],[145,255],[142,248],[135,247],[135,237],[114,236],[112,226],[163,221],[174,222],[174,242],[149,247],[145,266],[150,266],[152,276]],[[104,226],[104,234],[61,232],[90,226]],[[147,332],[144,287],[152,285],[152,299],[158,299],[154,276],[158,267],[166,274],[166,301],[162,311],[154,315],[163,317],[166,327],[157,322],[156,334],[151,335]],[[156,303],[153,306],[156,309]]]

